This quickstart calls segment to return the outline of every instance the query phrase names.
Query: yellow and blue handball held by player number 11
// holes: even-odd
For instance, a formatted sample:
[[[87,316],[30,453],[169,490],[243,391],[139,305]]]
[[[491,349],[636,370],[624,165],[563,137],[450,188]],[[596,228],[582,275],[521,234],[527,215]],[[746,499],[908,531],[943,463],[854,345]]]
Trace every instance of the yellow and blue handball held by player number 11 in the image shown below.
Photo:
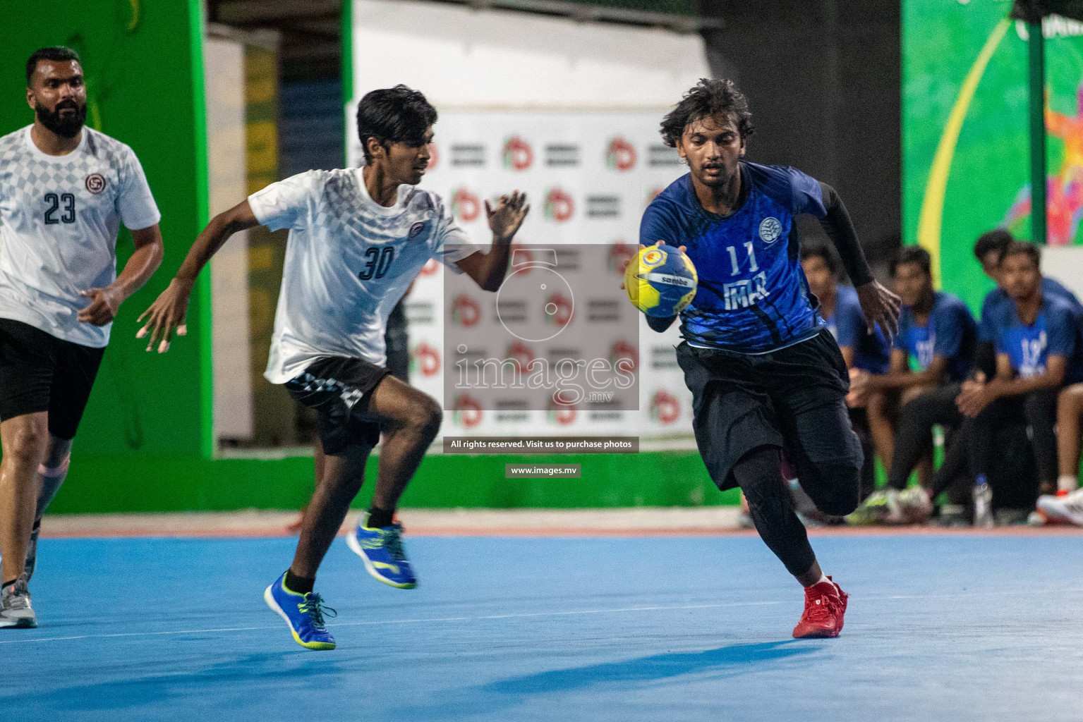
[[[628,300],[648,316],[668,318],[688,307],[699,277],[692,260],[676,246],[639,249],[624,271]]]

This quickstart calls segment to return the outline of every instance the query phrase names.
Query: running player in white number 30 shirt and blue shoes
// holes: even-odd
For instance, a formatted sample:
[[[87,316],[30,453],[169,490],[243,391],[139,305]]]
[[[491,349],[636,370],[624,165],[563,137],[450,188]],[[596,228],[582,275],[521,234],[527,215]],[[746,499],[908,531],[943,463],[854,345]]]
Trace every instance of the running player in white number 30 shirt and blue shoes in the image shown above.
[[[412,589],[416,579],[393,522],[399,498],[440,429],[443,412],[426,394],[390,376],[383,331],[388,315],[429,259],[496,291],[508,247],[530,207],[516,192],[485,205],[493,246],[467,245],[447,206],[415,186],[429,162],[436,110],[405,86],[374,90],[357,105],[363,168],[314,170],[273,183],[217,215],[188,251],[177,277],[145,313],[149,351],[184,331],[199,270],[237,231],[289,228],[282,292],[265,377],[317,411],[326,459],[304,511],[289,569],[264,599],[310,649],[332,649],[316,569],[361,489],[365,462],[380,438],[373,506],[347,541],[380,581]]]

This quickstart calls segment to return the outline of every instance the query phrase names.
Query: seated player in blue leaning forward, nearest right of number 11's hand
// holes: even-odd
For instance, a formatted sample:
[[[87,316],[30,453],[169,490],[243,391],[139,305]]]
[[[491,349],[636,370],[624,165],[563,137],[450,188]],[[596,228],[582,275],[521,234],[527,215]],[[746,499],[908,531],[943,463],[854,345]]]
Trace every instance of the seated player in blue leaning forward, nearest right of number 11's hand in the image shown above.
[[[869,497],[858,517],[902,523],[923,520],[931,511],[921,487],[904,489],[922,459],[930,459],[934,424],[962,423],[955,397],[974,358],[977,325],[962,300],[932,289],[931,259],[924,248],[899,249],[891,261],[891,278],[903,306],[890,368],[853,381],[853,393],[867,398],[888,486]],[[912,363],[917,370],[911,369]],[[890,410],[897,406],[901,408],[892,419]]]

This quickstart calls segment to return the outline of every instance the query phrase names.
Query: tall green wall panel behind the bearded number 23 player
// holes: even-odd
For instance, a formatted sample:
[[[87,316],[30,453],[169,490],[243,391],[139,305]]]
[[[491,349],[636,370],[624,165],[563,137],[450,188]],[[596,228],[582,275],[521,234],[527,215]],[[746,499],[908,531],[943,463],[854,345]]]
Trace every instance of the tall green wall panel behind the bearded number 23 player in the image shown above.
[[[118,455],[209,451],[210,377],[204,277],[188,315],[188,338],[168,355],[144,352],[135,318],[166,287],[206,222],[206,133],[199,0],[35,0],[5,13],[0,42],[0,133],[32,121],[24,67],[40,47],[79,51],[87,75],[88,124],[130,145],[161,210],[166,258],[120,309],[87,415],[78,460]],[[121,233],[118,262],[131,253]],[[149,481],[149,480],[148,480]]]

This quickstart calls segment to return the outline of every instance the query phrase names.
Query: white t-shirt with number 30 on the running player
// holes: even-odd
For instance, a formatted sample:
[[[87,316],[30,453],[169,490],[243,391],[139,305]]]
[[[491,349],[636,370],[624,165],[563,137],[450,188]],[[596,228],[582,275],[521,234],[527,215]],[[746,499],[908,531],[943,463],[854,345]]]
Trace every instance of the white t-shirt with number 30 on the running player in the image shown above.
[[[319,356],[382,366],[391,310],[429,259],[454,265],[475,250],[434,193],[399,186],[374,201],[360,168],[300,173],[248,197],[256,219],[289,228],[264,377],[286,383]]]

